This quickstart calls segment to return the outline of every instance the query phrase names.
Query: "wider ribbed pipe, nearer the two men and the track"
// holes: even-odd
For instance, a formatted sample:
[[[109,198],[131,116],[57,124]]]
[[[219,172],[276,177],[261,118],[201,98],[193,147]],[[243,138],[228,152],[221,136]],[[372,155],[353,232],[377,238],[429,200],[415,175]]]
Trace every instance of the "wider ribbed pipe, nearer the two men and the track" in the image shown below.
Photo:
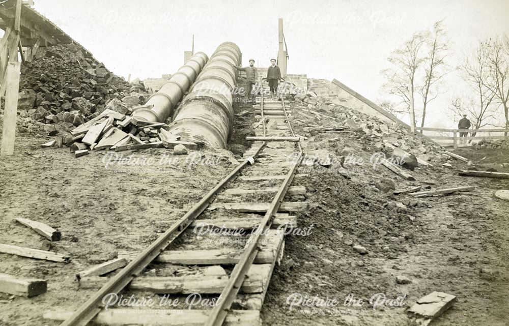
[[[234,121],[234,66],[240,62],[241,52],[235,43],[220,44],[175,111],[169,131],[185,140],[226,148]]]

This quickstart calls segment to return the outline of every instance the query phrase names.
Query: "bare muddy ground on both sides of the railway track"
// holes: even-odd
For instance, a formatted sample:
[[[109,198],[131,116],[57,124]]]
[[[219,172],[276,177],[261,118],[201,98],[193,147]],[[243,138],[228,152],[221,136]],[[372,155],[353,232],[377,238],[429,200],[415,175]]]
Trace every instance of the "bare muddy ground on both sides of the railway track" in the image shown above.
[[[349,146],[366,161],[376,152],[356,133],[327,142],[336,136],[315,135],[304,151],[326,147],[338,152]],[[240,142],[243,135],[237,131],[234,138]],[[142,250],[234,167],[225,156],[217,160],[224,153],[211,151],[190,152],[172,166],[159,165],[163,155],[172,158],[164,149],[134,152],[137,158],[152,157],[154,163],[148,166],[105,167],[101,152],[76,159],[67,149],[40,149],[45,141],[17,138],[16,154],[0,161],[0,243],[56,251],[69,255],[71,262],[0,254],[0,273],[44,278],[49,284],[47,293],[31,299],[0,294],[2,326],[58,324],[41,319],[42,312],[76,308],[92,293],[77,290],[76,272]],[[217,164],[189,166],[186,157],[193,153],[199,153],[200,162]],[[461,155],[468,157],[466,152]],[[193,160],[197,162],[196,157]],[[312,232],[287,236],[285,258],[272,276],[262,310],[264,324],[407,325],[404,309],[432,291],[458,297],[453,308],[434,321],[437,325],[507,324],[509,202],[493,197],[493,192],[509,189],[509,180],[460,177],[453,169],[435,167],[418,168],[412,172],[418,181],[407,182],[383,166],[345,167],[299,168],[310,177],[294,184],[305,185],[307,201],[314,204],[298,216],[299,226]],[[455,163],[455,168],[465,167]],[[387,200],[413,198],[378,192],[374,184],[381,177],[394,180],[397,189],[423,180],[435,181],[434,188],[476,189],[417,199],[417,206],[397,211],[384,207]],[[48,243],[15,217],[58,227],[63,239]],[[360,255],[352,249],[355,245],[369,252]],[[397,284],[399,275],[412,283]],[[293,293],[336,299],[339,304],[290,310],[287,301]],[[404,305],[373,309],[368,301],[376,293],[391,299],[406,295]],[[367,303],[345,306],[349,294]]]

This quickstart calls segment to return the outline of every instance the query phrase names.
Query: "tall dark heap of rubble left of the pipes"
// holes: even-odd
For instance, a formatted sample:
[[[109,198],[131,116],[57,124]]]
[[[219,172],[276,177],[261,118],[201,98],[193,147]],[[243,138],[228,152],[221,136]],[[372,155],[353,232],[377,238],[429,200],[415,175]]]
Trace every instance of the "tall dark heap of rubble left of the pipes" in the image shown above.
[[[143,83],[130,85],[74,44],[42,48],[23,63],[19,90],[17,132],[49,135],[91,120],[112,101],[129,109],[146,97]]]

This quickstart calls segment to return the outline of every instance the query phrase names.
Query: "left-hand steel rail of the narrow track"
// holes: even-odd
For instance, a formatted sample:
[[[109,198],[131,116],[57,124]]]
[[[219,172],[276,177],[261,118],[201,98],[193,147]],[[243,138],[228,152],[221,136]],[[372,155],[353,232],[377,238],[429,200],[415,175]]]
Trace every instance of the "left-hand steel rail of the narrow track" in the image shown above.
[[[171,244],[214,200],[214,196],[224,185],[235,179],[237,174],[247,165],[253,164],[260,152],[265,147],[265,143],[258,147],[252,157],[247,158],[239,164],[232,172],[225,176],[212,190],[210,190],[193,208],[187,212],[180,220],[174,223],[166,232],[161,234],[152,244],[143,252],[138,254],[127,266],[125,266],[117,275],[111,277],[92,297],[82,304],[61,326],[85,326],[101,310],[100,303],[104,295],[108,293],[118,293],[136,276],[138,276],[169,244]]]

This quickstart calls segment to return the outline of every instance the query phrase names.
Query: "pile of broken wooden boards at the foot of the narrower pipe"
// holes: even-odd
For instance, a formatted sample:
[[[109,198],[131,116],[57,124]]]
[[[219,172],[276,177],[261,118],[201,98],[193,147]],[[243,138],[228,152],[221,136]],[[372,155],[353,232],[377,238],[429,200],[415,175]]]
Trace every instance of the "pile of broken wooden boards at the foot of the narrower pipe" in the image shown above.
[[[109,109],[71,131],[68,141],[75,157],[87,155],[92,150],[115,150],[116,152],[147,148],[173,148],[178,144],[196,149],[197,144],[179,141],[165,123],[140,121]],[[59,146],[57,140],[42,147]],[[59,146],[60,147],[60,146]]]

